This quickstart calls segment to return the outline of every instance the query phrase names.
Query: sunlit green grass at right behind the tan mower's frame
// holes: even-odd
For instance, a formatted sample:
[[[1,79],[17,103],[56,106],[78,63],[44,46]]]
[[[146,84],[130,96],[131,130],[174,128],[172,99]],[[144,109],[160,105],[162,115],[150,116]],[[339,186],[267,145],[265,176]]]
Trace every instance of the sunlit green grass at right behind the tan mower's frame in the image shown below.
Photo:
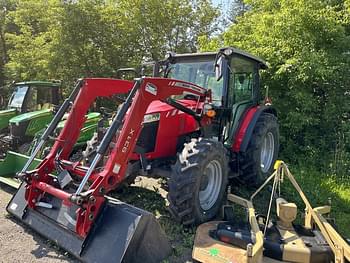
[[[289,167],[299,186],[308,198],[312,207],[324,206],[331,203],[330,218],[334,220],[337,230],[346,238],[350,238],[350,178],[337,177],[319,173],[314,168]],[[254,206],[258,213],[266,214],[271,194],[271,187],[266,187],[254,199]],[[248,198],[254,189],[242,188],[237,185],[232,192]],[[299,218],[297,223],[303,223],[305,205],[298,192],[288,179],[281,185],[281,196],[298,206]],[[272,213],[275,213],[275,204]]]

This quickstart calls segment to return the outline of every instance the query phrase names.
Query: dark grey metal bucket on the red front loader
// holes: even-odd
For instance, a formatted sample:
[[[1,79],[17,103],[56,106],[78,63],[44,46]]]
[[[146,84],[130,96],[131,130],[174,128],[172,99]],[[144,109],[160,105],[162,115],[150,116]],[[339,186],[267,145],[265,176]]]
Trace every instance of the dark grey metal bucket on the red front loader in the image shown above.
[[[53,204],[52,209],[31,209],[24,193],[25,183],[7,211],[83,262],[161,262],[171,253],[168,239],[147,211],[107,198],[89,235],[83,239],[72,231],[74,205],[67,207],[59,199],[46,197]]]

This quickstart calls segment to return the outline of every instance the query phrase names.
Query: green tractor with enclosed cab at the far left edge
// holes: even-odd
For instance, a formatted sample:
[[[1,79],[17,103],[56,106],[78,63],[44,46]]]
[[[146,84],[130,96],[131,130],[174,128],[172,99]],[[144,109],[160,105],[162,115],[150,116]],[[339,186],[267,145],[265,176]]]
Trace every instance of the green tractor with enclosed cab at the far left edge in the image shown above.
[[[35,134],[53,118],[61,97],[60,86],[46,81],[14,84],[7,109],[0,111],[0,158],[8,150],[28,151]]]

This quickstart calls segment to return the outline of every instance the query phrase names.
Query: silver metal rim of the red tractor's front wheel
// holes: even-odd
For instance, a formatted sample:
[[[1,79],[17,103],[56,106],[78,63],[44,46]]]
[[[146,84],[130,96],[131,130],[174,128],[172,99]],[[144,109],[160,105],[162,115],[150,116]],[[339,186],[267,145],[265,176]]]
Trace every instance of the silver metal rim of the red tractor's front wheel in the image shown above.
[[[212,208],[221,191],[222,168],[218,161],[212,160],[205,167],[201,179],[199,202],[203,210]]]

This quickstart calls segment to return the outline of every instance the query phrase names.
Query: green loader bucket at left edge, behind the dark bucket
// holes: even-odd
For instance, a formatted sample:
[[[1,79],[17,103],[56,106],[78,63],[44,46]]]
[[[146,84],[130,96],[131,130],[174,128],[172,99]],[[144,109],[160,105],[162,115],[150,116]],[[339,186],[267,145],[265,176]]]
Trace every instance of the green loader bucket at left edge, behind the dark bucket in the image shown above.
[[[0,160],[0,182],[18,188],[20,181],[14,179],[14,176],[22,169],[28,159],[29,157],[26,155],[12,151],[7,152],[6,158]],[[40,162],[41,160],[34,159],[29,169],[36,168]]]

